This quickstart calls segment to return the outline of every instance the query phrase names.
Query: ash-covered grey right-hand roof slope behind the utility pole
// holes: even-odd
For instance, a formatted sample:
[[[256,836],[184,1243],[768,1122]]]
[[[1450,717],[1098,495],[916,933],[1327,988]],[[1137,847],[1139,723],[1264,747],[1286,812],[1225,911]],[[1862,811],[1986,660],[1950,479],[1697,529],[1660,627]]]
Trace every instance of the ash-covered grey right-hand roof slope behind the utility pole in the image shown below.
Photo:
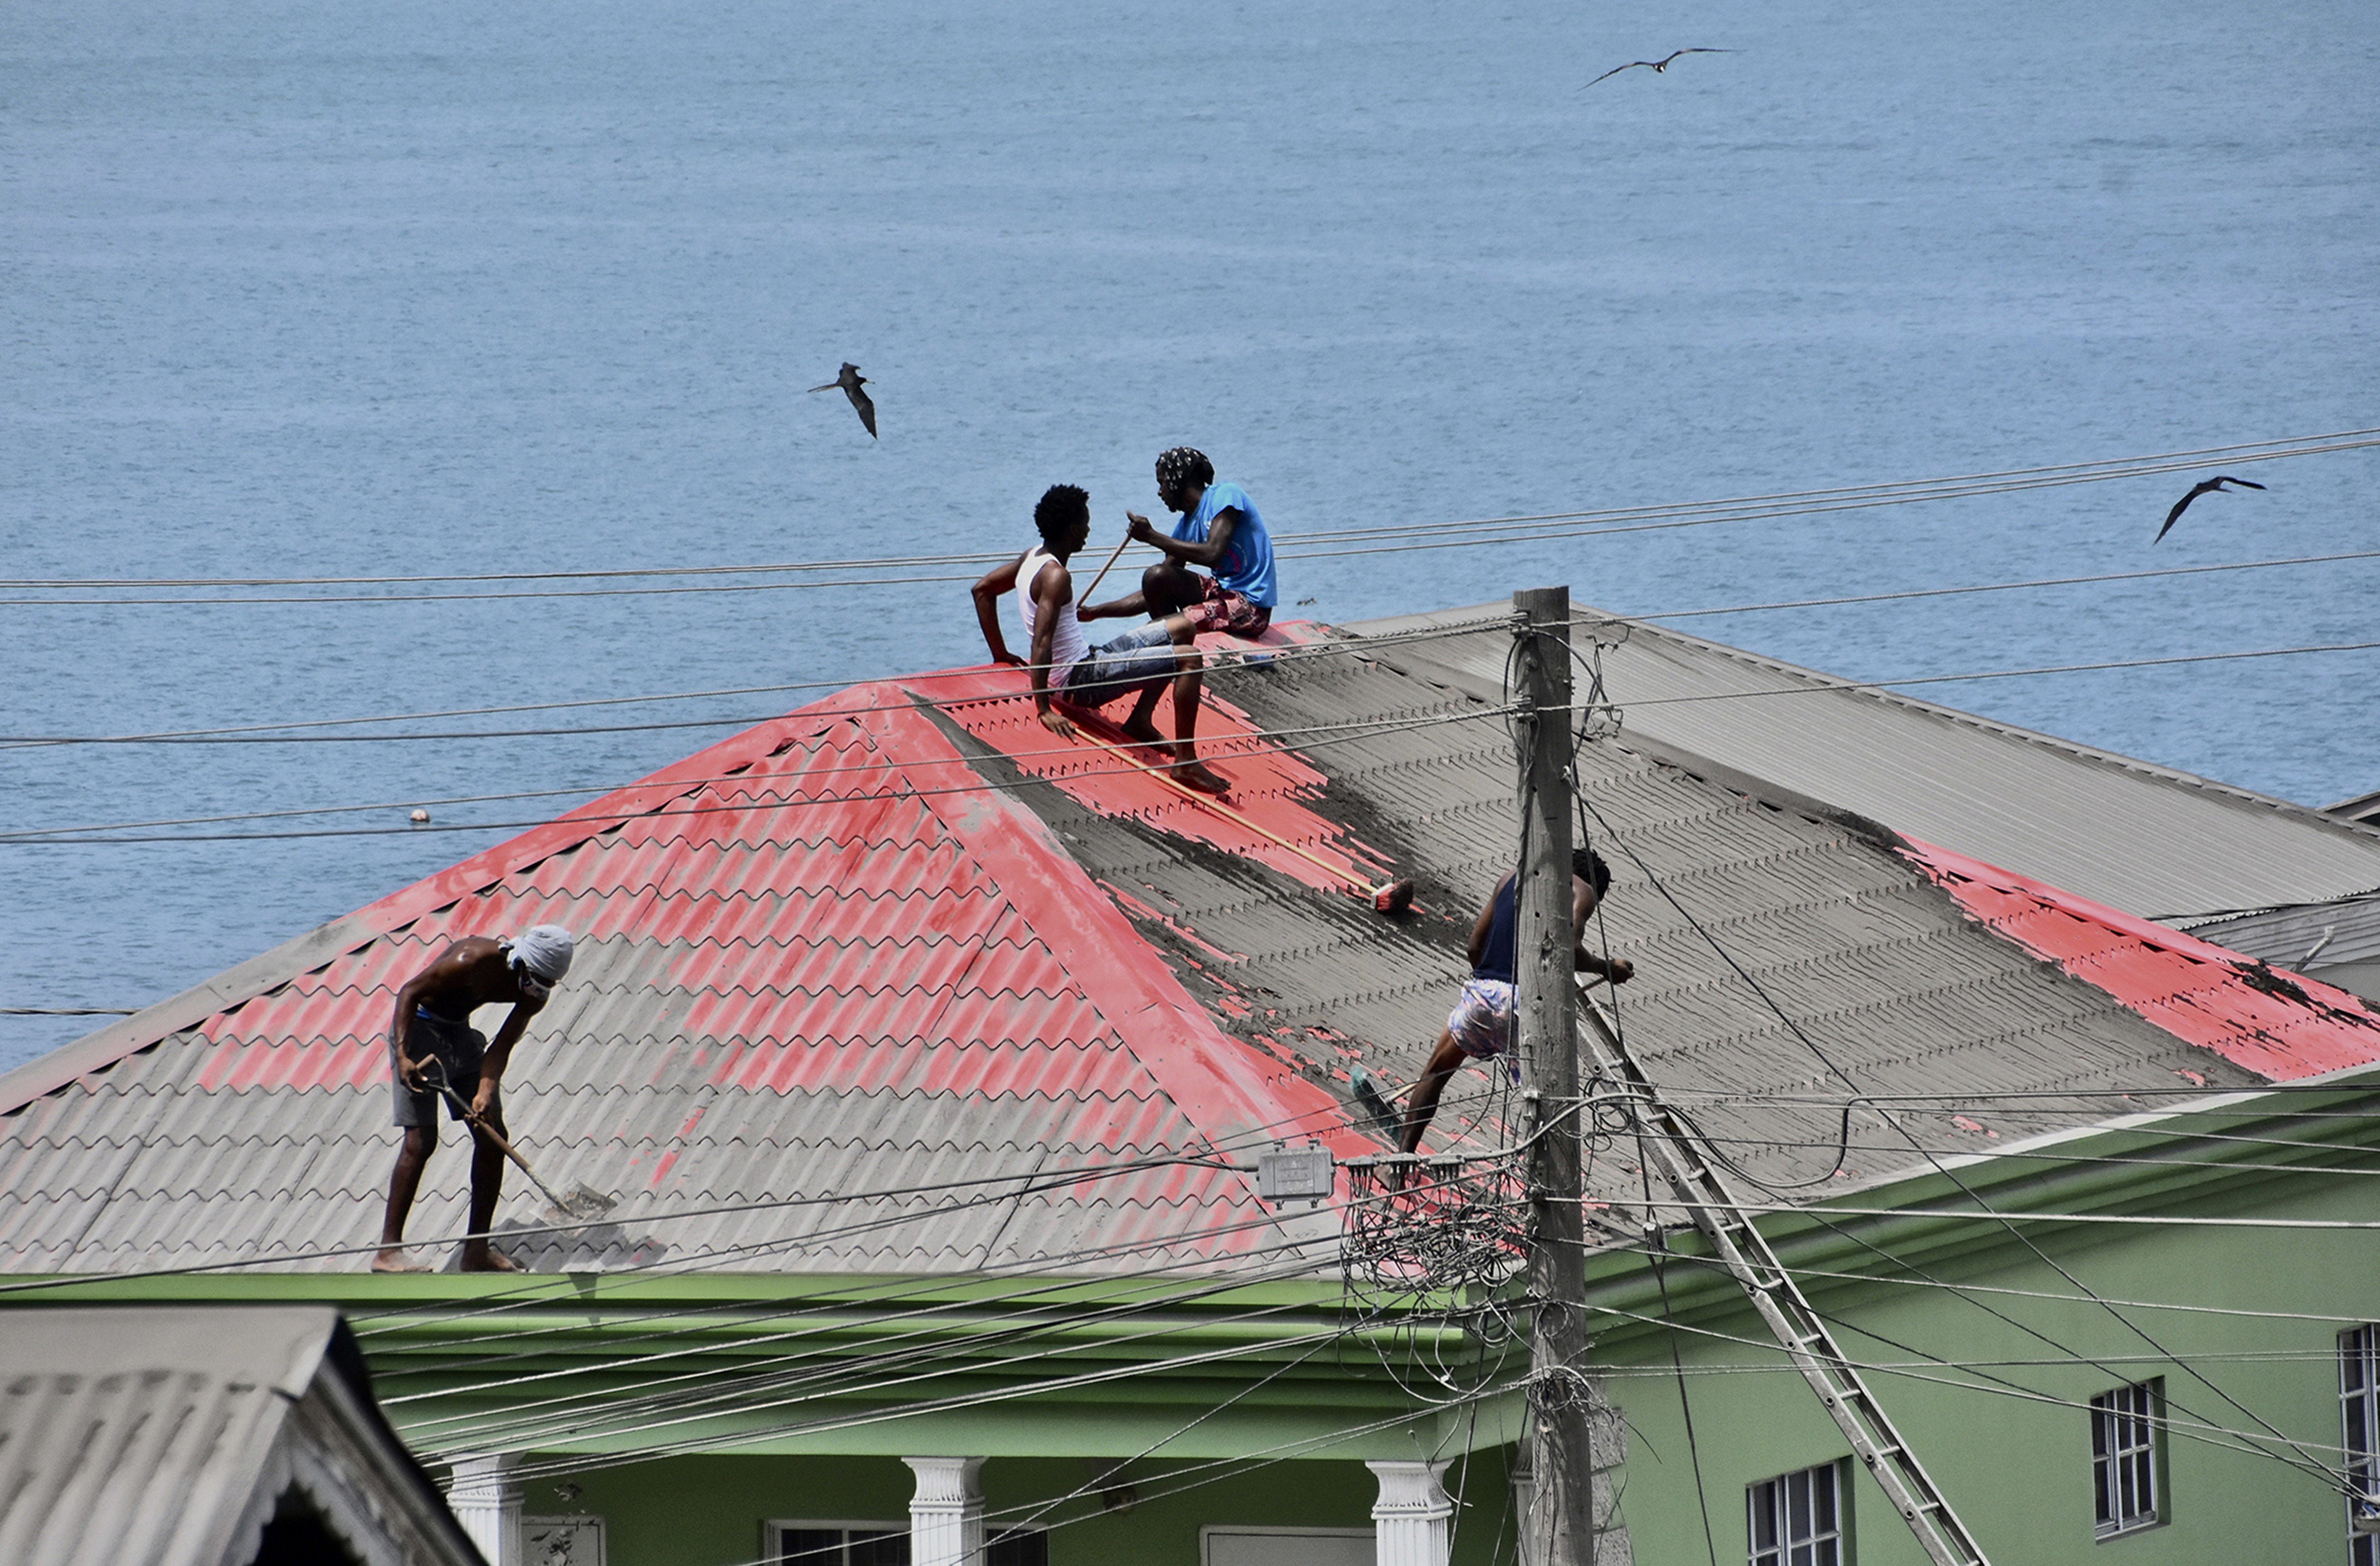
[[[1438,645],[1283,657],[1230,685],[1266,731],[1407,724],[1307,752],[1328,771],[1314,812],[1421,881],[1404,928],[1321,888],[1302,895],[1292,876],[1185,852],[1147,823],[1035,802],[1085,871],[1128,895],[1142,933],[1226,1028],[1338,1092],[1354,1066],[1392,1090],[1411,1080],[1468,971],[1471,914],[1516,854],[1511,738],[1497,707],[1414,671]],[[1961,876],[1990,866],[1687,771],[1628,735],[1583,745],[1578,766],[1587,831],[1614,871],[1602,935],[1637,966],[1618,995],[1628,1042],[1664,1088],[1728,1100],[1733,1150],[1761,1178],[1823,1178],[1835,1161],[1840,1107],[1785,1102],[1849,1092],[1818,1050],[1859,1092],[1940,1097],[1902,1121],[1959,1152],[2135,1111],[2128,1090],[2240,1088],[2380,1059],[2380,1026],[2351,997],[2306,985],[2304,1002],[2263,1014],[2273,997],[2187,935],[2006,876],[1992,885],[2028,900],[2035,923],[2016,902],[1968,907],[1980,897]],[[2042,935],[2054,921],[2066,923]],[[2071,950],[2085,959],[2061,966]],[[2180,1033],[2163,1026],[2185,1014]],[[1483,1066],[1457,1076],[1433,1147],[1495,1145],[1507,1083]],[[1987,1095],[2044,1090],[2078,1097],[1978,1109]],[[1873,1121],[1854,1116],[1854,1140],[1878,1145]],[[1861,1154],[1849,1178],[1914,1159]],[[1635,1180],[1609,1161],[1597,1178],[1614,1199]]]

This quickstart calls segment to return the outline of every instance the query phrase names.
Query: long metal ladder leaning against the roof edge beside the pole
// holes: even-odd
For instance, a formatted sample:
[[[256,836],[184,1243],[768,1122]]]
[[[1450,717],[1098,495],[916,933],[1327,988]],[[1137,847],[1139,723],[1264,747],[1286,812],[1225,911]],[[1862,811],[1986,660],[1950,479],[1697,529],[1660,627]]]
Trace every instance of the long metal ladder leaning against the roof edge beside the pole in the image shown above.
[[[1778,1347],[1802,1371],[1802,1380],[1809,1383],[1809,1390],[1825,1404],[1844,1440],[1852,1442],[1852,1452],[1859,1454],[1859,1461],[1883,1485],[1894,1511],[1902,1514],[1902,1521],[1916,1535],[1918,1547],[1937,1566],[1990,1566],[1983,1549],[1966,1533],[1966,1526],[1949,1509],[1949,1502],[1942,1499],[1933,1478],[1925,1476],[1916,1452],[1892,1428],[1892,1418],[1885,1416],[1859,1378],[1859,1371],[1835,1347],[1825,1321],[1809,1307],[1802,1288],[1778,1261],[1768,1240],[1745,1216],[1742,1202],[1718,1178],[1718,1169],[1704,1150],[1702,1138],[1661,1104],[1652,1080],[1637,1071],[1618,1033],[1606,1023],[1602,1004],[1592,995],[1585,995],[1585,985],[1580,985],[1578,1011],[1585,1021],[1585,1038],[1595,1064],[1635,1100],[1637,1123],[1647,1130],[1645,1147],[1661,1169],[1661,1176],[1678,1192],[1687,1211],[1695,1214],[1695,1228],[1702,1230],[1711,1249],[1718,1252],[1721,1264],[1742,1285],[1761,1321],[1775,1333]]]

